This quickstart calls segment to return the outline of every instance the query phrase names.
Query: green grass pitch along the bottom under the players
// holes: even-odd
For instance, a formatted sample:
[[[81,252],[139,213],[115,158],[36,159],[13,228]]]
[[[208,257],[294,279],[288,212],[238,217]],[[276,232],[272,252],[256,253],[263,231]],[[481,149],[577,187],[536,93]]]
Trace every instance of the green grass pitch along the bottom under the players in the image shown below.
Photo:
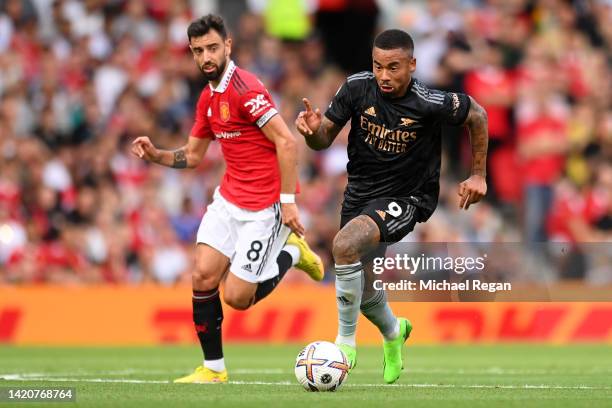
[[[382,382],[380,347],[335,393],[295,381],[300,345],[232,345],[230,384],[172,384],[200,361],[196,347],[0,347],[0,387],[75,387],[75,403],[19,406],[127,407],[600,407],[612,406],[612,347],[409,346],[396,385]],[[12,404],[15,406],[15,404]],[[0,403],[0,407],[9,406]]]

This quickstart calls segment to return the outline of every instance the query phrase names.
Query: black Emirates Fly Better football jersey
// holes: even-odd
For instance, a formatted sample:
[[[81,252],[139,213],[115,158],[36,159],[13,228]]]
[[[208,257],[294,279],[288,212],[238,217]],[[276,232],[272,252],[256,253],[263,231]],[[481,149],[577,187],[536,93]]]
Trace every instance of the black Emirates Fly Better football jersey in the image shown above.
[[[406,198],[431,216],[440,191],[441,129],[467,118],[467,95],[427,88],[414,78],[406,94],[382,94],[374,74],[349,76],[325,116],[344,126],[351,120],[348,141],[348,185],[343,211],[353,211],[376,198]]]

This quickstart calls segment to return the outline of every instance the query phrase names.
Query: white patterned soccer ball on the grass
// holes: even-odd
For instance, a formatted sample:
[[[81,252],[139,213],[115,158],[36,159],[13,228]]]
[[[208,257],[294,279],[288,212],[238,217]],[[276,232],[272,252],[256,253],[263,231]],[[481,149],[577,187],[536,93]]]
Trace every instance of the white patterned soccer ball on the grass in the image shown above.
[[[295,359],[295,377],[307,391],[336,391],[348,371],[346,356],[328,341],[310,343]]]

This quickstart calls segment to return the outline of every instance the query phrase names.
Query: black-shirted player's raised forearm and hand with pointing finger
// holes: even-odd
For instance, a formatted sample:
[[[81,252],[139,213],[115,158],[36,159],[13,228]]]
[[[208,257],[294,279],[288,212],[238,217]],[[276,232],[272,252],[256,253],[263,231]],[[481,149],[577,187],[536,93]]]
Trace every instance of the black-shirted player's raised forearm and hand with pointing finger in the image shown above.
[[[314,150],[327,149],[342,127],[321,115],[319,108],[313,110],[307,98],[303,98],[302,101],[306,110],[298,114],[295,127],[304,136],[308,147]]]

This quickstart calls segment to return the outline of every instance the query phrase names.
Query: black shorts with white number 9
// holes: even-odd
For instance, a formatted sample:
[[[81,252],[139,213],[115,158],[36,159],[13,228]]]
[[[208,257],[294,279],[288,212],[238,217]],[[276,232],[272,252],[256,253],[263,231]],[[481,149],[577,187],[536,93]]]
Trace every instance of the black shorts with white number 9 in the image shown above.
[[[340,228],[362,214],[372,218],[380,230],[380,242],[393,244],[408,235],[420,219],[420,209],[410,199],[377,198],[353,211],[342,209]]]

